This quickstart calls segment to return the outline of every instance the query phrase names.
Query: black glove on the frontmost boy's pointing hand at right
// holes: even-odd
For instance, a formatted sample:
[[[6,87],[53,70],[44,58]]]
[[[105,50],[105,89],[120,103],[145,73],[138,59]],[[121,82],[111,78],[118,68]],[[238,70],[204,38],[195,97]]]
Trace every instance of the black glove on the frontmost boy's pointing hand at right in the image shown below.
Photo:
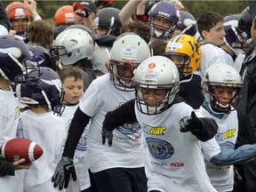
[[[191,112],[191,116],[185,116],[180,119],[180,132],[194,132],[199,128],[199,126],[200,122],[195,111]]]

